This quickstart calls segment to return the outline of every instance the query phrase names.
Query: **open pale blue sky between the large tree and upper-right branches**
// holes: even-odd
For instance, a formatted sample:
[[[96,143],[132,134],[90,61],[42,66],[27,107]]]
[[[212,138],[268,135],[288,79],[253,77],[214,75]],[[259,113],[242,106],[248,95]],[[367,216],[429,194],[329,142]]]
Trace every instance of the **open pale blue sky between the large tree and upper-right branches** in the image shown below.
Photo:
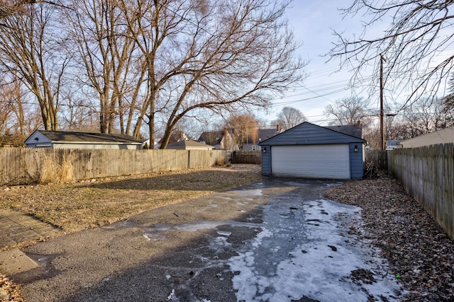
[[[304,69],[307,78],[301,83],[301,87],[288,91],[283,98],[273,100],[272,112],[266,116],[267,120],[274,119],[284,106],[290,106],[301,110],[309,122],[326,125],[329,121],[323,115],[325,107],[335,100],[352,95],[348,87],[351,74],[347,71],[336,72],[339,61],[334,59],[326,62],[328,57],[323,57],[331,50],[333,42],[336,42],[333,29],[345,33],[361,32],[360,16],[343,18],[339,11],[339,8],[348,8],[352,2],[353,0],[297,0],[291,4],[286,17],[296,39],[302,43],[298,55],[309,62]],[[373,102],[375,103],[377,102]]]

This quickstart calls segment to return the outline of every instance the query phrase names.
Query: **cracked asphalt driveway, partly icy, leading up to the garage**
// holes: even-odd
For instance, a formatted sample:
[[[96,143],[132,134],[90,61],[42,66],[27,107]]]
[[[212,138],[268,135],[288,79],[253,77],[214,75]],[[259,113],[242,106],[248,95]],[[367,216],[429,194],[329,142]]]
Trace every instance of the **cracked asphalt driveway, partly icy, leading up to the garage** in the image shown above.
[[[338,184],[269,178],[54,238],[13,279],[27,301],[398,300],[360,208],[323,199]]]

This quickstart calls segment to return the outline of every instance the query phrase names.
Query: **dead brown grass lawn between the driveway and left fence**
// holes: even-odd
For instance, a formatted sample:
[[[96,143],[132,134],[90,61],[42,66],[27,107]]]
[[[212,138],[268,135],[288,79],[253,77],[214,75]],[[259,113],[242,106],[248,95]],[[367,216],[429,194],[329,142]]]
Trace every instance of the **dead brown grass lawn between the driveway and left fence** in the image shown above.
[[[4,189],[0,209],[31,214],[71,233],[261,178],[260,165],[231,165],[66,184],[54,180]]]

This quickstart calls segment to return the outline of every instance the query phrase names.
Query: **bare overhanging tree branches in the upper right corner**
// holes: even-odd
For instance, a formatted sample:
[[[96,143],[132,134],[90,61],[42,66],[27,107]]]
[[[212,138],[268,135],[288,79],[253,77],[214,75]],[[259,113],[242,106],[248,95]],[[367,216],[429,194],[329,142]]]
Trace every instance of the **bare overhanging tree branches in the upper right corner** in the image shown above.
[[[331,58],[338,58],[341,68],[352,69],[353,83],[358,83],[363,81],[362,71],[371,65],[375,66],[374,79],[378,81],[382,54],[387,59],[383,72],[386,89],[406,93],[401,110],[427,93],[433,97],[443,90],[454,66],[450,49],[454,42],[453,5],[454,1],[445,0],[355,0],[343,10],[345,17],[361,15],[368,21],[364,21],[358,36],[335,33],[338,42],[330,52]],[[371,36],[377,23],[389,18],[383,35]]]

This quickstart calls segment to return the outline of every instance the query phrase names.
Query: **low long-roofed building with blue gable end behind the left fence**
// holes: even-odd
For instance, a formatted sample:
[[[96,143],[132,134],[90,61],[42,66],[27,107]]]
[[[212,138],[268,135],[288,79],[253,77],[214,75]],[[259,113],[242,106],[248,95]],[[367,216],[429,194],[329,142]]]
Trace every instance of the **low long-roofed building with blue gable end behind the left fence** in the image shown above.
[[[35,130],[28,148],[52,149],[142,149],[142,142],[125,134]]]

